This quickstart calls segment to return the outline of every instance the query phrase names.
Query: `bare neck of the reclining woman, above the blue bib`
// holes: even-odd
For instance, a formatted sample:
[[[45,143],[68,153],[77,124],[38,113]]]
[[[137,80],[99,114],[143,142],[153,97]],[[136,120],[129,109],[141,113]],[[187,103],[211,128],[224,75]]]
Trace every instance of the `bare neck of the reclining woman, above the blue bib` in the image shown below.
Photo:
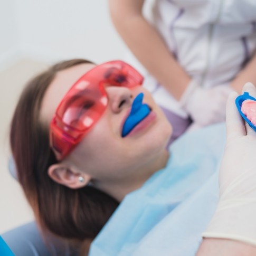
[[[97,184],[97,187],[121,202],[127,194],[140,188],[151,175],[164,168],[168,158],[169,153],[167,150],[164,150],[156,158],[134,169],[132,173],[135,175],[120,178],[115,183]]]

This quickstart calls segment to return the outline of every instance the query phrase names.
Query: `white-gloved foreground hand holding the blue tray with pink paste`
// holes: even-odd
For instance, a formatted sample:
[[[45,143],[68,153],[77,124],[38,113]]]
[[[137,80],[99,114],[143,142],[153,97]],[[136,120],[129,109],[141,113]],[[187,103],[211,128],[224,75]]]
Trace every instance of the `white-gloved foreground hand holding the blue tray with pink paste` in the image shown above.
[[[246,83],[243,90],[256,97],[253,84]],[[235,106],[237,96],[233,92],[227,102],[227,140],[220,167],[220,200],[203,236],[256,245],[256,132],[247,123],[244,125]]]

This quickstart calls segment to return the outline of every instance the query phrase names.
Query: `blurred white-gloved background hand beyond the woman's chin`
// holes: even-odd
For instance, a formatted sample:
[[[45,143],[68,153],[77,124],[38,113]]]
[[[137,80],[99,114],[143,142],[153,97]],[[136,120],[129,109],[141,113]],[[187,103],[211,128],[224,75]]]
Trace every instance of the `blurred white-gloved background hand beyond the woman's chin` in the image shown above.
[[[192,80],[179,103],[198,126],[206,126],[225,121],[226,100],[231,91],[229,86],[204,89]]]

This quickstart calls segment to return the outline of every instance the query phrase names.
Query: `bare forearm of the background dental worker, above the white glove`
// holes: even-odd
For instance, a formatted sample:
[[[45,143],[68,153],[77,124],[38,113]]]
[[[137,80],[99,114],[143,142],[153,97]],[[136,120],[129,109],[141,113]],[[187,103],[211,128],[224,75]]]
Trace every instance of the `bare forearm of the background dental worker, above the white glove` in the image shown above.
[[[142,15],[144,0],[109,0],[113,24],[141,64],[177,100],[191,78]]]

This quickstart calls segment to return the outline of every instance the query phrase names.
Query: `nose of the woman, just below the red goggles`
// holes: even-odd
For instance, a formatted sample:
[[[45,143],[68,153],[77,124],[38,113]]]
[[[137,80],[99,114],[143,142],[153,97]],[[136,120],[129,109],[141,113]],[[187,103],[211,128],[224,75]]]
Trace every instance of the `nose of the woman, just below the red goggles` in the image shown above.
[[[119,113],[122,109],[131,106],[132,92],[126,87],[109,86],[106,87],[109,106],[114,113]]]

